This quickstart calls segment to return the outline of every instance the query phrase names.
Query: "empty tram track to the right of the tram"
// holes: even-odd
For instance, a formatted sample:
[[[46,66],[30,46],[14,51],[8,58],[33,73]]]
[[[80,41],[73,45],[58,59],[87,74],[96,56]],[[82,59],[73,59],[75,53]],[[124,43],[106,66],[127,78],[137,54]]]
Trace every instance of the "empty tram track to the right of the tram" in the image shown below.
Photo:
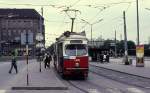
[[[95,65],[90,65],[90,72],[127,85],[150,89],[150,78],[115,71]]]

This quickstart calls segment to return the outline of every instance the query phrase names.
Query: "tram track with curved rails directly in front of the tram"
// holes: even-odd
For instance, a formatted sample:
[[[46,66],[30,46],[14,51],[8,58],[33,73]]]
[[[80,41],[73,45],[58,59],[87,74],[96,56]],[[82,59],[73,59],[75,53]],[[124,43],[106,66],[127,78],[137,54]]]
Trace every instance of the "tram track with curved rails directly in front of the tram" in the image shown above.
[[[93,77],[93,75],[94,75],[94,73],[90,73],[90,76]],[[96,76],[98,76],[98,75],[96,75]],[[90,78],[92,78],[92,77],[90,77]],[[95,77],[95,75],[94,75],[94,77]],[[93,79],[92,80],[87,79],[87,80],[83,80],[83,81],[68,80],[67,82],[71,86],[82,91],[83,93],[128,93],[122,89],[101,85],[100,83],[94,82]]]

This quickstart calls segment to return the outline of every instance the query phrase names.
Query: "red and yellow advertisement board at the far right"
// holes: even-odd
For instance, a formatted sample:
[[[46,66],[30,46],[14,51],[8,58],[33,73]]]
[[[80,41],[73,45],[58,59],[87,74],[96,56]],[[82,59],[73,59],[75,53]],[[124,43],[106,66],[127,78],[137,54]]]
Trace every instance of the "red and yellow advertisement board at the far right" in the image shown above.
[[[144,45],[136,46],[136,66],[144,67]]]

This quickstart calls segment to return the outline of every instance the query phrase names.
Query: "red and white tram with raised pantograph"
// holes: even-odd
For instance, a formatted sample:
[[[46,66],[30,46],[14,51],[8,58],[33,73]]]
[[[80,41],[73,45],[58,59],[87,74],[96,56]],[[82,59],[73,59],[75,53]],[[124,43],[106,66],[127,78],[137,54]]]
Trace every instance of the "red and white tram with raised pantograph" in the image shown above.
[[[64,77],[88,77],[88,40],[85,33],[65,32],[54,44],[54,66]]]

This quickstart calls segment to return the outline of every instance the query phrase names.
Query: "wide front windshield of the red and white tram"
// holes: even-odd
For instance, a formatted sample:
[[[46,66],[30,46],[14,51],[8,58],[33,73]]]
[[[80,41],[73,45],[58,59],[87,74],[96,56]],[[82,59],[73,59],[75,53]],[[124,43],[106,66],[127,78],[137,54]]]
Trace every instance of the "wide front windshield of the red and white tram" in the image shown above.
[[[65,52],[66,52],[66,55],[69,55],[69,56],[86,55],[87,54],[86,45],[83,45],[83,44],[66,45]]]

